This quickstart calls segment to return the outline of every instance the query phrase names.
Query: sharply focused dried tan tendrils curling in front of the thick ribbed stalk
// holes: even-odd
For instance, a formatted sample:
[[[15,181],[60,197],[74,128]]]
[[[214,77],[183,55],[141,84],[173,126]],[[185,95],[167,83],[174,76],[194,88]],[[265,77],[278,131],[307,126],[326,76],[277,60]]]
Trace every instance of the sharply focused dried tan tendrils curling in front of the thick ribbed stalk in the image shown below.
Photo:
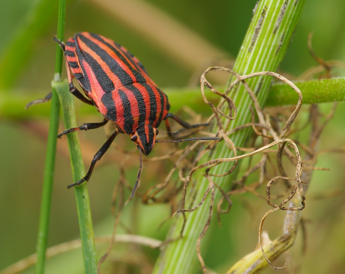
[[[219,92],[216,88],[214,88],[214,86],[212,86],[207,81],[206,75],[210,71],[226,71],[234,77],[233,82],[231,82],[231,84],[227,87],[227,89],[224,91],[224,93]],[[258,100],[257,100],[253,90],[250,88],[250,86],[246,82],[246,80],[249,78],[264,76],[264,75],[273,76],[273,77],[287,83],[296,91],[296,93],[298,95],[297,105],[296,105],[295,109],[292,111],[292,113],[289,115],[289,117],[287,118],[285,125],[280,129],[280,131],[275,130],[277,127],[275,125],[272,125],[269,116],[265,115],[265,113],[263,112],[263,110],[261,109],[261,107],[258,103]],[[230,93],[230,90],[232,90],[235,86],[238,86],[239,84],[242,84],[245,87],[246,91],[249,94],[250,99],[253,102],[253,110],[252,110],[253,119],[252,119],[252,123],[240,125],[238,128],[230,128],[231,121],[233,119],[236,119],[236,117],[237,117],[237,110],[236,110],[236,107],[235,107],[233,100],[229,97],[229,93]],[[205,86],[207,88],[209,88],[214,94],[216,94],[222,98],[220,104],[217,107],[213,104],[213,102],[207,100],[207,98],[205,96],[205,91],[204,91]],[[229,211],[229,209],[231,207],[231,200],[230,200],[229,196],[231,194],[233,194],[233,192],[235,191],[235,190],[231,190],[229,193],[225,193],[214,182],[214,180],[211,177],[227,176],[228,174],[233,172],[233,170],[235,169],[235,167],[237,165],[237,161],[239,159],[243,159],[246,157],[252,157],[255,154],[262,153],[263,156],[262,156],[262,159],[259,161],[259,163],[255,167],[253,167],[252,169],[248,170],[248,172],[244,175],[245,177],[248,177],[249,174],[251,174],[255,170],[259,169],[260,170],[260,178],[259,178],[259,182],[256,186],[256,187],[258,187],[263,183],[265,177],[268,177],[265,165],[267,163],[272,162],[271,157],[268,156],[268,153],[275,152],[277,155],[276,156],[276,162],[277,162],[277,167],[278,167],[278,173],[280,176],[274,177],[273,179],[269,180],[269,182],[267,184],[267,197],[266,197],[268,204],[273,206],[274,209],[265,214],[265,216],[262,219],[262,223],[263,223],[264,219],[266,218],[266,216],[270,212],[276,211],[278,209],[290,210],[290,211],[302,210],[305,206],[304,205],[305,196],[304,196],[303,188],[302,188],[302,183],[304,183],[304,182],[302,182],[302,180],[300,179],[300,176],[302,174],[302,169],[303,169],[302,158],[300,156],[300,153],[299,153],[299,150],[298,150],[296,143],[293,140],[285,137],[288,134],[290,127],[291,127],[293,121],[295,120],[295,118],[298,114],[298,111],[300,110],[301,105],[302,105],[302,93],[291,81],[289,81],[285,77],[283,77],[283,76],[281,76],[275,72],[270,72],[270,71],[256,72],[254,74],[240,76],[240,75],[236,74],[236,72],[234,72],[230,69],[224,68],[224,67],[211,67],[211,68],[208,68],[203,73],[203,75],[201,76],[201,93],[202,93],[202,96],[203,96],[205,103],[208,104],[213,111],[213,115],[208,119],[208,122],[211,122],[213,120],[216,121],[216,127],[217,127],[216,136],[220,137],[220,141],[214,142],[213,144],[208,145],[208,147],[206,147],[205,150],[203,150],[201,153],[199,153],[198,157],[196,157],[196,159],[194,160],[195,165],[190,169],[187,176],[185,178],[182,178],[183,194],[182,194],[182,200],[181,200],[181,209],[176,211],[174,213],[174,215],[181,212],[183,214],[183,217],[184,217],[184,225],[185,225],[185,223],[186,223],[185,212],[191,212],[191,211],[196,210],[199,206],[201,206],[204,203],[204,201],[206,200],[209,193],[211,193],[211,199],[210,199],[210,205],[209,205],[209,218],[208,218],[208,220],[204,226],[203,231],[199,235],[198,241],[197,241],[197,253],[198,253],[199,261],[203,267],[204,273],[206,273],[206,266],[205,266],[205,263],[204,263],[201,255],[200,255],[200,241],[201,241],[201,238],[205,235],[205,233],[208,229],[208,226],[210,224],[210,221],[211,221],[213,206],[214,206],[215,188],[218,188],[222,194],[222,198],[219,200],[218,205],[217,205],[218,220],[219,220],[219,213],[226,213]],[[255,121],[254,121],[255,115],[258,117],[258,123],[255,123]],[[232,133],[235,133],[236,131],[247,128],[247,127],[252,127],[254,129],[254,132],[257,135],[263,137],[263,146],[258,148],[258,149],[249,151],[246,154],[238,156],[237,150],[239,150],[239,149],[245,150],[245,148],[242,148],[242,149],[236,148],[234,145],[234,142],[230,139],[229,136]],[[202,163],[202,164],[199,164],[199,165],[196,164],[199,162],[201,157],[205,154],[205,151],[208,151],[210,149],[214,149],[214,146],[218,145],[217,143],[223,142],[223,141],[227,145],[228,149],[232,151],[233,157],[216,158],[216,159],[209,160],[209,161]],[[294,153],[292,153],[286,147],[287,143],[289,144],[290,147],[292,147],[294,149]],[[278,147],[277,150],[272,149],[274,146]],[[188,151],[188,149],[189,148],[187,148],[186,151]],[[292,163],[294,163],[294,165],[296,166],[295,178],[288,178],[286,176],[284,168],[283,168],[283,164],[282,164],[283,155],[286,155],[289,158],[289,160]],[[183,157],[185,157],[185,155],[181,156],[181,158],[179,160],[181,160]],[[220,174],[220,175],[219,174],[211,174],[212,168],[214,168],[215,166],[217,166],[221,163],[224,163],[224,162],[234,162],[234,165],[231,166],[231,168],[224,174]],[[198,169],[201,169],[201,168],[206,168],[204,176],[207,178],[207,180],[209,182],[208,188],[206,189],[206,192],[204,193],[203,198],[200,200],[200,202],[194,208],[189,208],[189,209],[185,208],[186,194],[187,194],[187,188],[188,188],[189,182],[191,182],[193,174]],[[283,179],[288,188],[291,187],[290,184],[288,183],[288,180],[294,180],[294,182],[295,182],[294,186],[292,187],[292,191],[290,192],[288,197],[286,197],[279,205],[275,205],[275,204],[270,202],[270,197],[271,197],[270,186],[277,179]],[[245,180],[245,179],[243,179],[243,180]],[[245,187],[244,185],[243,185],[243,187],[246,188],[246,191],[249,190],[249,187]],[[255,189],[253,188],[253,189],[251,189],[251,191],[255,192]],[[286,203],[288,203],[295,196],[295,194],[297,194],[300,197],[300,203],[302,204],[302,206],[301,207],[286,207],[286,206],[284,206]],[[221,205],[225,201],[227,202],[228,207],[226,209],[221,209]],[[262,231],[261,230],[262,223],[260,224],[260,235],[259,235],[260,238],[261,238],[261,231]],[[181,231],[181,236],[182,236],[182,233],[183,233],[183,229]],[[270,263],[268,257],[265,255],[265,252],[262,248],[261,240],[259,241],[259,244],[260,244],[260,248],[261,248],[267,262],[272,267],[274,267],[272,265],[272,263]],[[274,267],[274,268],[278,269],[277,267]]]

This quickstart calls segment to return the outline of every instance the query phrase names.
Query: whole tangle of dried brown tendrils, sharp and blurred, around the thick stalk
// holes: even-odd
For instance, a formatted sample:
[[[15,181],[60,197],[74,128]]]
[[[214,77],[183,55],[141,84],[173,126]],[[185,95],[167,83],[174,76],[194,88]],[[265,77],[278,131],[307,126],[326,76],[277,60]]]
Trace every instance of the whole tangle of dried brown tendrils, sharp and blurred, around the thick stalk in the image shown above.
[[[229,74],[232,75],[233,81],[231,84],[228,85],[226,90],[224,92],[218,91],[213,85],[211,85],[207,79],[206,75],[210,71],[226,71]],[[298,102],[296,107],[291,110],[287,114],[287,110],[282,110],[279,112],[279,118],[277,118],[277,115],[270,116],[269,113],[265,110],[265,112],[260,107],[258,100],[255,96],[255,93],[253,92],[252,88],[247,84],[247,79],[252,77],[259,77],[259,76],[272,76],[280,81],[285,82],[288,84],[292,89],[296,92],[298,95]],[[238,112],[236,110],[235,104],[233,100],[230,98],[229,94],[230,91],[234,88],[237,88],[237,86],[243,85],[245,87],[246,92],[249,95],[250,100],[252,101],[252,122],[247,124],[242,124],[237,127],[231,127],[231,122],[237,118]],[[209,88],[214,94],[218,95],[221,98],[220,103],[215,106],[213,101],[210,101],[206,98],[205,95],[205,86]],[[178,213],[181,213],[183,215],[184,224],[180,232],[180,237],[183,235],[184,226],[186,224],[186,212],[192,212],[195,211],[198,207],[200,207],[206,200],[206,198],[210,195],[210,202],[209,202],[209,217],[204,225],[204,229],[201,232],[201,234],[198,237],[197,240],[197,254],[199,257],[199,261],[201,263],[201,266],[203,268],[204,273],[206,273],[206,266],[203,261],[203,258],[200,254],[200,242],[205,233],[207,232],[207,229],[209,227],[212,215],[213,215],[213,208],[215,203],[215,191],[216,189],[219,190],[221,193],[221,198],[219,201],[217,201],[217,217],[218,221],[220,223],[220,213],[227,213],[229,212],[231,208],[231,199],[230,196],[237,193],[244,193],[244,192],[251,192],[258,197],[266,198],[267,203],[272,206],[273,208],[268,211],[262,218],[259,226],[259,246],[260,249],[266,258],[267,262],[271,267],[278,270],[280,267],[275,267],[273,264],[269,261],[269,258],[266,256],[265,251],[263,249],[262,244],[262,226],[264,223],[265,218],[268,216],[268,214],[277,211],[277,210],[286,210],[286,211],[300,211],[305,207],[305,196],[304,196],[304,190],[303,187],[305,182],[301,179],[302,175],[302,169],[303,169],[303,162],[302,157],[300,155],[299,149],[297,147],[297,144],[294,140],[289,139],[287,136],[292,132],[291,125],[293,121],[296,119],[296,116],[302,106],[302,93],[300,90],[288,79],[285,77],[270,71],[263,71],[263,72],[256,72],[254,74],[250,75],[244,75],[240,76],[236,74],[236,72],[224,68],[224,67],[210,67],[208,68],[203,75],[201,76],[201,94],[203,96],[203,99],[206,104],[210,106],[210,108],[213,111],[213,115],[207,120],[207,123],[214,124],[215,134],[206,133],[203,131],[203,135],[209,135],[209,136],[216,136],[219,137],[219,141],[207,141],[205,143],[202,140],[195,141],[194,143],[187,144],[187,146],[184,149],[171,149],[166,153],[164,156],[157,156],[149,159],[145,159],[146,162],[149,161],[158,161],[162,159],[168,159],[171,160],[172,158],[175,158],[176,160],[173,162],[173,166],[170,169],[170,172],[165,177],[164,180],[162,180],[161,183],[150,187],[147,189],[147,191],[144,194],[141,194],[142,202],[144,203],[171,203],[176,204],[176,195],[182,190],[182,198],[181,198],[181,204],[180,209],[176,211],[174,207],[172,207],[173,216],[175,216]],[[257,117],[257,118],[255,118]],[[280,126],[282,117],[286,117],[286,122],[283,126]],[[256,121],[257,120],[257,121]],[[245,148],[245,147],[236,147],[233,140],[231,140],[231,135],[236,133],[239,130],[246,129],[248,127],[253,128],[255,136],[260,136],[262,138],[262,146],[259,148]],[[198,130],[196,128],[195,130]],[[321,130],[321,129],[320,129]],[[183,132],[181,132],[183,133]],[[255,140],[256,138],[254,138]],[[231,157],[228,158],[214,158],[207,162],[204,162],[202,164],[199,164],[201,159],[203,159],[204,155],[209,153],[213,153],[213,151],[216,149],[220,143],[223,143],[226,145],[226,147],[229,150],[229,155]],[[253,143],[254,144],[254,143]],[[298,144],[300,146],[300,144]],[[277,147],[276,149],[274,147]],[[303,150],[308,151],[308,147],[301,146]],[[292,150],[290,149],[292,148]],[[195,152],[197,151],[197,153]],[[239,153],[240,151],[241,153]],[[244,152],[244,154],[242,154]],[[272,154],[275,154],[276,160],[274,161]],[[242,155],[239,155],[242,154]],[[236,182],[233,184],[233,188],[230,189],[229,192],[225,192],[223,189],[220,188],[220,186],[217,185],[216,178],[217,177],[224,177],[233,172],[237,165],[237,161],[239,159],[247,158],[247,157],[253,157],[254,155],[261,154],[262,158],[255,164],[253,167],[249,168],[247,172],[244,173],[244,175],[239,178]],[[193,157],[191,157],[193,156]],[[283,167],[283,156],[287,157],[288,160],[295,166],[295,177],[290,178],[286,175],[284,167]],[[210,157],[212,158],[212,156]],[[123,175],[124,169],[126,165],[129,163],[129,156],[124,159],[121,162],[121,180],[120,184],[122,185],[123,189],[124,187],[129,188],[130,186],[125,180],[125,177]],[[215,166],[225,163],[225,162],[233,162],[233,165],[231,165],[231,168],[227,170],[223,174],[213,174],[212,170]],[[276,163],[274,165],[274,162]],[[272,174],[268,174],[267,166],[270,166],[275,173],[274,176]],[[186,197],[187,197],[187,191],[189,184],[193,186],[193,174],[201,169],[205,168],[205,178],[208,180],[208,187],[203,195],[203,198],[193,207],[188,208],[186,206]],[[308,166],[308,168],[313,169],[311,165]],[[256,172],[259,171],[259,179],[257,183],[251,184],[251,185],[245,185],[245,181],[247,177]],[[175,181],[175,184],[171,184],[172,176],[174,173],[178,173],[178,179]],[[256,189],[261,186],[264,181],[266,180],[267,187],[266,187],[266,197],[263,197],[261,194],[259,194]],[[281,195],[271,195],[271,186],[274,184],[277,180],[282,180],[285,183],[286,186],[286,193]],[[293,181],[294,184],[291,184],[290,181]],[[162,191],[165,191],[164,193]],[[117,190],[119,191],[119,190]],[[122,190],[121,190],[122,191]],[[297,195],[296,195],[297,194]],[[140,195],[140,194],[138,194]],[[117,195],[114,195],[114,197],[118,197]],[[298,199],[296,197],[299,197]],[[271,202],[272,198],[283,198],[282,201],[279,204],[274,204]],[[114,198],[115,199],[115,198]],[[296,200],[298,202],[296,203]],[[292,203],[294,201],[294,203]],[[287,203],[289,205],[287,206]],[[300,204],[301,206],[298,207],[297,204]],[[121,203],[118,203],[121,204]],[[224,204],[227,204],[226,207],[224,207]],[[118,216],[116,215],[116,225],[118,224]],[[167,244],[168,242],[172,241],[174,239],[171,239],[169,241],[166,241],[163,244]],[[108,248],[108,252],[110,251],[110,246]],[[106,254],[107,254],[106,253]]]

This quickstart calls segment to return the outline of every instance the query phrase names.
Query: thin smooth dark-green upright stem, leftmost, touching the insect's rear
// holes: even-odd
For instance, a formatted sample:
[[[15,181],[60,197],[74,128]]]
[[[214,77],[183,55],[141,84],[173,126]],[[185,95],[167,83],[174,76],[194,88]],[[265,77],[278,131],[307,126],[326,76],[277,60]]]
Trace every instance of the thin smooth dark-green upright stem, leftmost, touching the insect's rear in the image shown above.
[[[58,10],[58,29],[57,37],[63,40],[63,33],[65,32],[65,13],[66,13],[66,1],[59,1]],[[55,80],[59,81],[62,71],[62,57],[61,49],[57,46],[55,57]],[[51,97],[51,109],[50,109],[50,121],[49,121],[49,134],[47,141],[47,153],[46,163],[43,178],[42,200],[41,200],[41,213],[38,229],[38,238],[36,244],[37,263],[35,268],[36,274],[42,274],[44,272],[44,266],[46,261],[46,249],[47,238],[49,231],[49,218],[51,207],[51,196],[54,179],[54,167],[56,156],[56,141],[59,127],[60,116],[60,102],[56,94],[56,91],[52,90]]]

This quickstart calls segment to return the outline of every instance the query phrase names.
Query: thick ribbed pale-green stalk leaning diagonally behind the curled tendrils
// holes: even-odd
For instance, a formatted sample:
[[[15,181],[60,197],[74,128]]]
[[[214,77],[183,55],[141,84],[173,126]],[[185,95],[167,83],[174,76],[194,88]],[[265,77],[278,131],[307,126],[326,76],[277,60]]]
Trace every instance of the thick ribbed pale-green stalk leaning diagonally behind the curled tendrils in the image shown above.
[[[238,74],[245,75],[257,71],[275,71],[282,61],[290,39],[296,28],[305,1],[286,0],[262,0],[258,2],[257,9],[246,33],[243,45],[239,51],[233,70]],[[254,90],[259,104],[264,106],[268,88],[272,78],[267,76],[249,79],[247,82]],[[237,118],[231,123],[231,128],[250,122],[251,100],[243,86],[239,86],[231,93],[237,107]],[[215,129],[216,131],[216,129]],[[251,130],[239,131],[230,138],[236,147],[242,147],[246,140],[252,136]],[[227,158],[233,154],[227,146],[220,144],[211,158]],[[202,161],[208,160],[204,158]],[[231,163],[223,163],[212,169],[213,174],[223,174],[231,166]],[[202,174],[195,176],[195,187],[193,192],[186,199],[188,207],[196,206],[202,199],[208,187],[208,181]],[[232,182],[232,176],[214,177],[215,183],[223,189],[228,189]],[[219,200],[221,194],[216,191],[215,202]],[[200,264],[196,255],[197,238],[209,216],[209,202],[200,206],[195,212],[187,214],[187,223],[184,230],[184,238],[166,245],[156,262],[154,274],[180,274],[196,273]],[[169,238],[177,237],[180,233],[183,218],[181,215],[175,217],[170,229]],[[211,230],[211,227],[209,228]],[[203,238],[207,241],[208,235]],[[207,262],[206,262],[207,264]]]

